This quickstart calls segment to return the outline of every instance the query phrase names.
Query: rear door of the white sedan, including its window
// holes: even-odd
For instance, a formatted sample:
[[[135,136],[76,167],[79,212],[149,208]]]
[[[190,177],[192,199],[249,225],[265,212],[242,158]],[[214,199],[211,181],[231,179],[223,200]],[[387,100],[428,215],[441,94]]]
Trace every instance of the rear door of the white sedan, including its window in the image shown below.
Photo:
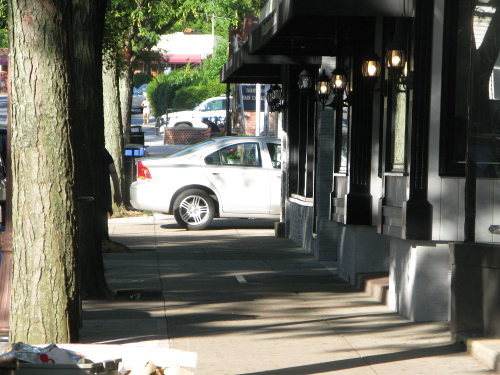
[[[262,166],[259,142],[225,146],[204,158],[203,171],[217,190],[226,214],[268,214],[271,182]]]

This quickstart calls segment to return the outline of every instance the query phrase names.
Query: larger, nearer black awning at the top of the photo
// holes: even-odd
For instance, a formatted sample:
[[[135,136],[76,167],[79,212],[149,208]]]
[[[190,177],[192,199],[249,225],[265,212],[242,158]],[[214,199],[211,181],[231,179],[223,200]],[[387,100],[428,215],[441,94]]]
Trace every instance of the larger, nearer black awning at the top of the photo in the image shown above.
[[[416,0],[283,0],[250,34],[249,53],[335,55],[337,33],[364,17],[411,17]]]

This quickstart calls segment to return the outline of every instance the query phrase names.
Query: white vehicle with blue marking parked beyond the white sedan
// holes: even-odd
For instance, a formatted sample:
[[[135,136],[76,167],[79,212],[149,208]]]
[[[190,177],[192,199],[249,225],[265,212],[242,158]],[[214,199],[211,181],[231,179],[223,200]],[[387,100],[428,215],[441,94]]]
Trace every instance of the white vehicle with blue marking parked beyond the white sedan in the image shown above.
[[[192,111],[171,112],[163,115],[163,121],[169,128],[173,127],[196,127],[206,128],[201,122],[203,117],[208,117],[214,122],[225,122],[226,118],[226,97],[217,96],[208,98],[198,104]]]

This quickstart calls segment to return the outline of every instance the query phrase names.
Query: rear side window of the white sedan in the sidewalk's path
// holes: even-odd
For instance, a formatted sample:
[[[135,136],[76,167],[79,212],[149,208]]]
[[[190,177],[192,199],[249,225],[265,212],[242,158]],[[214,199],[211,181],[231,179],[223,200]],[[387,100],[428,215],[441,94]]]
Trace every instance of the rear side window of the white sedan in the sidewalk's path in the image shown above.
[[[260,167],[260,149],[258,143],[239,143],[217,150],[207,157],[208,165],[238,165],[245,167]]]

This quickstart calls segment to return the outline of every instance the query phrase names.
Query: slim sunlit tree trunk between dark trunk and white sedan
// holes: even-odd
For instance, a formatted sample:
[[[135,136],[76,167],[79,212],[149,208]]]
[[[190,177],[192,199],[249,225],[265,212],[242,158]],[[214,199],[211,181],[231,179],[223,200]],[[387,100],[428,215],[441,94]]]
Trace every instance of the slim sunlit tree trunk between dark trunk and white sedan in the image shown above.
[[[109,61],[114,63],[110,63]],[[120,191],[124,189],[124,155],[123,155],[123,126],[120,107],[119,72],[117,62],[108,59],[103,68],[103,93],[104,93],[104,139],[106,148],[113,157]]]

